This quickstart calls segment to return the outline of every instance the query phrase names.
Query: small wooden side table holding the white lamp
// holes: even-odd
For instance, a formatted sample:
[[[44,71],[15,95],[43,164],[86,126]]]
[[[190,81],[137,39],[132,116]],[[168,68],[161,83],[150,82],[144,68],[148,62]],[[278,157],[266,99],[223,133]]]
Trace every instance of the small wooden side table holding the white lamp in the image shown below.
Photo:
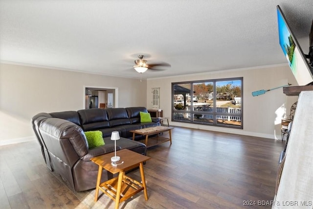
[[[145,175],[143,172],[143,162],[149,160],[150,157],[138,154],[128,149],[122,149],[116,151],[116,156],[119,156],[121,158],[121,160],[117,162],[117,164],[123,161],[124,163],[114,167],[111,164],[111,157],[113,156],[114,152],[90,159],[92,162],[99,165],[94,201],[96,202],[98,200],[99,189],[115,201],[115,209],[118,209],[119,203],[129,199],[134,194],[142,190],[145,195],[145,200],[147,201],[148,193]],[[142,183],[139,183],[125,175],[126,171],[138,166],[140,169]],[[118,177],[100,183],[103,168],[111,172],[112,174],[118,173]]]

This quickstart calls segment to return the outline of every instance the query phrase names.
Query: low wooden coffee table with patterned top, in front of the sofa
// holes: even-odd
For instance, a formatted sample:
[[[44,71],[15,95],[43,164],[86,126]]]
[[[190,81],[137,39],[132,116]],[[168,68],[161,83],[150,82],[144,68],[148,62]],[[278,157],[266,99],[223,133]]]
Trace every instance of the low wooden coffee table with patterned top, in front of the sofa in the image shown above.
[[[172,144],[172,133],[171,130],[173,127],[166,127],[166,126],[154,126],[154,127],[149,127],[149,128],[143,128],[143,129],[136,129],[132,130],[130,132],[133,133],[133,140],[135,139],[135,135],[139,134],[142,136],[146,136],[146,139],[140,140],[140,142],[146,144],[147,148],[155,146],[160,143],[164,143],[166,141],[170,141]],[[169,132],[169,138],[161,137],[160,134],[163,132]],[[151,135],[157,135],[156,137],[149,138]]]

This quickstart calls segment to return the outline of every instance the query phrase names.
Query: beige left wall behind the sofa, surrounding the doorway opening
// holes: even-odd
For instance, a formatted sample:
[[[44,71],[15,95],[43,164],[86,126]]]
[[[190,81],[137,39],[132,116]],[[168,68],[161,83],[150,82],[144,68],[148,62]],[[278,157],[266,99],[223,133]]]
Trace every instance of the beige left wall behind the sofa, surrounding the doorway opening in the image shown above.
[[[147,82],[66,70],[0,64],[0,144],[33,140],[40,112],[84,109],[84,86],[118,88],[118,107],[146,106]]]

